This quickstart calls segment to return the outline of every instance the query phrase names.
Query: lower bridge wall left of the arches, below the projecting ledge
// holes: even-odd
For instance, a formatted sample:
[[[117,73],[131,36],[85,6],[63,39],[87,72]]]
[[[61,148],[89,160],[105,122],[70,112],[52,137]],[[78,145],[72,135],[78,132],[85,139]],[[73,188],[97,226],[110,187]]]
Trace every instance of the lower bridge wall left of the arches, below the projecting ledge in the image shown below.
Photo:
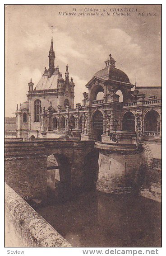
[[[46,198],[46,156],[5,159],[5,182],[24,199]]]

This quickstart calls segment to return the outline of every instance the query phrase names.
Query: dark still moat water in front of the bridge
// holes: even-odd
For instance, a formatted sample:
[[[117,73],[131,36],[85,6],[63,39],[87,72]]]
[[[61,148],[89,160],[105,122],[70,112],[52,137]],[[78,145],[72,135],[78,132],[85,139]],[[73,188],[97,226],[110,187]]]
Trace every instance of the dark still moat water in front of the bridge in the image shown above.
[[[37,212],[73,247],[161,247],[161,204],[96,190]]]

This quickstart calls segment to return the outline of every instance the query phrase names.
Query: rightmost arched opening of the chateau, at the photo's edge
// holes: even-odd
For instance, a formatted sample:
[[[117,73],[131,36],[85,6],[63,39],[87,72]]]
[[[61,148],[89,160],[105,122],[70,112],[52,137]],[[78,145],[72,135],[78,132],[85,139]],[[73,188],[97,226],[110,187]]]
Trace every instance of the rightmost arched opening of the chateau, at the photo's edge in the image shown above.
[[[145,115],[144,131],[146,132],[160,132],[160,115],[155,110],[150,110]]]

